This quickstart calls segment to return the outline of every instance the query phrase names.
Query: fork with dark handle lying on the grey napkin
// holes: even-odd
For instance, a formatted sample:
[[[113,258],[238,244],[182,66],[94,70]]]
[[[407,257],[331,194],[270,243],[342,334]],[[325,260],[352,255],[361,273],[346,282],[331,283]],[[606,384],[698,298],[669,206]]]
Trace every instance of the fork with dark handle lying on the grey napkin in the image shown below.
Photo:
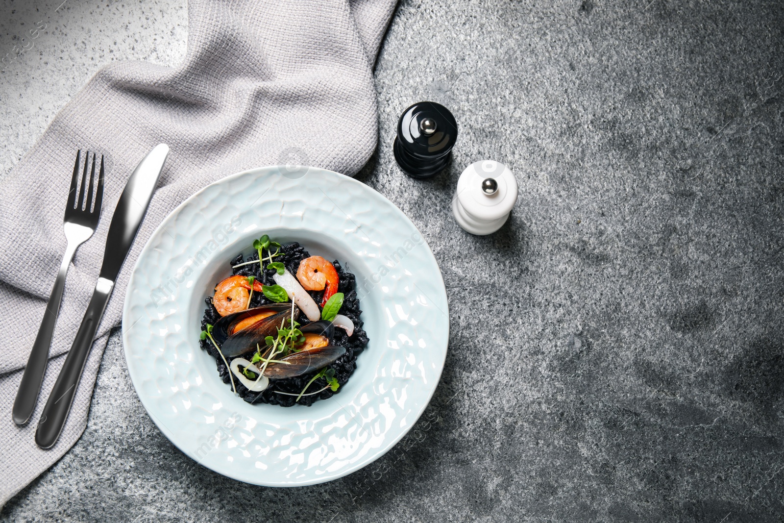
[[[16,400],[13,402],[13,421],[17,425],[24,425],[30,420],[35,403],[38,401],[38,394],[41,392],[41,384],[46,372],[46,364],[49,361],[49,346],[52,344],[54,325],[57,321],[57,314],[60,312],[60,300],[63,298],[65,286],[65,275],[71,259],[79,245],[86,242],[98,226],[100,217],[100,205],[103,200],[103,154],[100,157],[100,170],[98,180],[93,191],[93,180],[96,174],[96,154],[93,153],[93,162],[90,167],[89,185],[85,193],[85,180],[87,179],[87,166],[90,164],[89,151],[85,154],[85,166],[82,171],[82,184],[79,182],[79,168],[82,165],[82,150],[76,151],[76,163],[74,164],[74,176],[71,178],[71,191],[68,192],[68,202],[65,205],[65,217],[63,228],[67,246],[60,263],[60,271],[54,281],[52,293],[49,295],[49,303],[46,303],[44,318],[41,327],[38,329],[38,336],[35,336],[33,349],[30,358],[27,359],[27,367],[24,368],[22,382],[16,392]],[[76,191],[79,190],[78,198]]]

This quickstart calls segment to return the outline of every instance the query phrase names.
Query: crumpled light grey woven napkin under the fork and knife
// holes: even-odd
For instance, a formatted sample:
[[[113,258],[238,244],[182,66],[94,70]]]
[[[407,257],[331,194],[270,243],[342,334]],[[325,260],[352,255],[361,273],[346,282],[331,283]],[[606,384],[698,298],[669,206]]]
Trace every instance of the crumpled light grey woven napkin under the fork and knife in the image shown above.
[[[376,147],[372,67],[394,0],[189,2],[178,67],[111,64],[74,96],[0,183],[0,507],[82,435],[109,330],[129,273],[163,218],[201,187],[243,169],[292,161],[358,172]],[[158,191],[125,260],[60,441],[34,430],[82,320],[114,206],[157,143],[171,147]],[[107,155],[103,216],[68,273],[49,368],[27,427],[11,409],[60,256],[76,150]]]

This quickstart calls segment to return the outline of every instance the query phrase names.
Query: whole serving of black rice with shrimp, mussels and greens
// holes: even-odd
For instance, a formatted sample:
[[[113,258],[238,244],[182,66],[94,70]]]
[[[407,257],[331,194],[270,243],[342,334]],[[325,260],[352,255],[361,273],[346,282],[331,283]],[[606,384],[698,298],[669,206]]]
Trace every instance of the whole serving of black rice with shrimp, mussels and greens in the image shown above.
[[[199,343],[249,403],[310,406],[338,394],[368,344],[354,274],[267,236],[231,260],[205,302]]]

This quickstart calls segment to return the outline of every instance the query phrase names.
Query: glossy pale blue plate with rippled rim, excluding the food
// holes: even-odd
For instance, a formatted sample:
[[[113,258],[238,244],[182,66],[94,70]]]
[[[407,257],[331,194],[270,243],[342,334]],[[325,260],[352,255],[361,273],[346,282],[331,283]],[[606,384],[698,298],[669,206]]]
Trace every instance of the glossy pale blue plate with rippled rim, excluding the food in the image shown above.
[[[310,407],[249,405],[198,345],[205,298],[262,234],[357,276],[370,342],[339,394]],[[447,307],[433,253],[387,198],[324,169],[265,167],[205,187],[163,221],[133,269],[122,336],[144,408],[188,456],[256,485],[312,485],[365,467],[411,429],[444,366]]]

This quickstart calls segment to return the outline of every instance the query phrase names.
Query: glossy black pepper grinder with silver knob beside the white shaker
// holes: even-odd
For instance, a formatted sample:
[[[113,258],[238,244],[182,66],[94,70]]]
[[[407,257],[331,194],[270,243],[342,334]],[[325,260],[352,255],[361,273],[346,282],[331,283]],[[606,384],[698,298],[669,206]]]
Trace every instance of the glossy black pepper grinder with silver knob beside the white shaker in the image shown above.
[[[429,178],[449,163],[456,140],[452,113],[441,104],[419,102],[403,111],[397,121],[394,159],[408,176]]]

